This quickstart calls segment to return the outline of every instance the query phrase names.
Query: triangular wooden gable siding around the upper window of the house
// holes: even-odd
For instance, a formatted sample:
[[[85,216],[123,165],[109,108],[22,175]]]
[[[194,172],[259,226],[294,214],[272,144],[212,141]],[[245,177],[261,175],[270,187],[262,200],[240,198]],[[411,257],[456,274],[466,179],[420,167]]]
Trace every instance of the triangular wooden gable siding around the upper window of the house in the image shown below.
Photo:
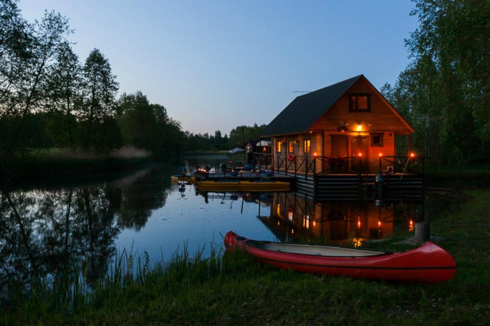
[[[350,112],[349,113],[349,93],[370,93],[371,112]],[[336,131],[339,125],[348,123],[346,126],[349,131],[356,131],[358,124],[361,124],[363,131],[367,132],[386,132],[392,131],[397,134],[409,134],[410,129],[403,121],[396,116],[392,109],[386,104],[384,99],[377,94],[366,80],[361,78],[348,91],[335,102],[328,111],[319,117],[311,126],[311,130],[332,130]],[[369,126],[371,124],[371,126]]]

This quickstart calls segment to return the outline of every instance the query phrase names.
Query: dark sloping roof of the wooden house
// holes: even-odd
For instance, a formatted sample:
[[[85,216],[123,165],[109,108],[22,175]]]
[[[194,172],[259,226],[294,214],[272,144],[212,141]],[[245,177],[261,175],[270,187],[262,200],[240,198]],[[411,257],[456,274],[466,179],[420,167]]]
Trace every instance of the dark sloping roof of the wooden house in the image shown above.
[[[361,77],[362,74],[296,97],[259,136],[307,131]]]

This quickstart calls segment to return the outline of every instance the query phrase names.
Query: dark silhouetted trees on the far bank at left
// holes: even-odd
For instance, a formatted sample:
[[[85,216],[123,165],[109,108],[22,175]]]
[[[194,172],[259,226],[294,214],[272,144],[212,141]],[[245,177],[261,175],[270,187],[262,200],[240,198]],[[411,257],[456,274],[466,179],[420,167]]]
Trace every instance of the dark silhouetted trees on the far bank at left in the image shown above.
[[[15,0],[0,0],[0,152],[123,144],[179,151],[186,135],[165,107],[141,92],[116,98],[109,60],[94,48],[83,63],[73,52],[68,19],[45,12],[34,23]]]

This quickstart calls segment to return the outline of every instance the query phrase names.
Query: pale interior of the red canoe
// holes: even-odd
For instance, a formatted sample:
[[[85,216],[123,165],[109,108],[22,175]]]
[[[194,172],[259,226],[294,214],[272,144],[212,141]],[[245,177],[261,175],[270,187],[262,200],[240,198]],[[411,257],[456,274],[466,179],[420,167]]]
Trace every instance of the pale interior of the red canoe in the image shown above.
[[[247,241],[246,245],[252,248],[275,251],[279,253],[326,256],[326,257],[370,257],[370,256],[392,254],[392,253],[386,253],[382,251],[349,249],[349,248],[319,246],[319,245],[300,245],[300,244],[290,244],[290,243],[252,241],[252,240]]]

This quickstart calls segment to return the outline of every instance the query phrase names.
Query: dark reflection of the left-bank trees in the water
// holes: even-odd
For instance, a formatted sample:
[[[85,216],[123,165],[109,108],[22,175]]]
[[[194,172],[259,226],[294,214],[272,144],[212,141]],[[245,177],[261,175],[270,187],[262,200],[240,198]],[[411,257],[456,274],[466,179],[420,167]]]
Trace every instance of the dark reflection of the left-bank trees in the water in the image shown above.
[[[140,230],[165,205],[171,183],[139,171],[111,182],[0,194],[0,284],[4,291],[33,277],[62,273],[87,283],[104,276],[123,229]]]

